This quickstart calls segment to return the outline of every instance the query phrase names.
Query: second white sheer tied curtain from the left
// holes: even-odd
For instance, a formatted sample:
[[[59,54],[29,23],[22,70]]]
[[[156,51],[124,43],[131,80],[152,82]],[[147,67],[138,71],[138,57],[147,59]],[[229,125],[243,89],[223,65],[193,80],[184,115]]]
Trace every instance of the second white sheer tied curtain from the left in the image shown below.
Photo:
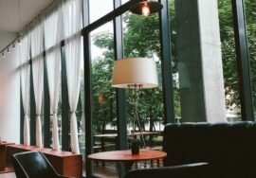
[[[36,146],[42,148],[41,109],[44,86],[43,27],[39,24],[31,31],[31,57],[33,87],[36,105]]]

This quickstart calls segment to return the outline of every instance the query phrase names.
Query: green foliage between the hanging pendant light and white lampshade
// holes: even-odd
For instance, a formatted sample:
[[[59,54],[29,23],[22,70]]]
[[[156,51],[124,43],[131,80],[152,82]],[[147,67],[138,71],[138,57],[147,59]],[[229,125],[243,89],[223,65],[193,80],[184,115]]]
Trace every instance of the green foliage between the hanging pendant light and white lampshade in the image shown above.
[[[159,56],[159,18],[152,14],[148,17],[125,13],[123,21],[126,24],[124,30],[124,53],[126,57],[150,57]]]

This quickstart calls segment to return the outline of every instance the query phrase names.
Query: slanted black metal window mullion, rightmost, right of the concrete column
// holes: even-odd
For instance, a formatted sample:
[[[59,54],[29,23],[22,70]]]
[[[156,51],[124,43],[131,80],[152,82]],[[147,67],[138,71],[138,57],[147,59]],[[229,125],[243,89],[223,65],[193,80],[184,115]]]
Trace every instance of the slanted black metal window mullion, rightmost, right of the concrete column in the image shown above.
[[[231,3],[242,119],[254,121],[244,0],[231,0]]]

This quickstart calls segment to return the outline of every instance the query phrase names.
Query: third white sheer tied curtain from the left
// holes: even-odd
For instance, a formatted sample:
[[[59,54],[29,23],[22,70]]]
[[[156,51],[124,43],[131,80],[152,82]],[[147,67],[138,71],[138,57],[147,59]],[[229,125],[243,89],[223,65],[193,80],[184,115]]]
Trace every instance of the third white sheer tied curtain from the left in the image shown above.
[[[59,10],[53,12],[45,21],[45,43],[46,49],[59,44],[61,37],[61,16]],[[48,78],[48,89],[50,98],[50,108],[53,114],[52,120],[52,148],[60,150],[58,135],[58,102],[61,82],[61,45],[57,45],[53,50],[46,52],[46,68]]]

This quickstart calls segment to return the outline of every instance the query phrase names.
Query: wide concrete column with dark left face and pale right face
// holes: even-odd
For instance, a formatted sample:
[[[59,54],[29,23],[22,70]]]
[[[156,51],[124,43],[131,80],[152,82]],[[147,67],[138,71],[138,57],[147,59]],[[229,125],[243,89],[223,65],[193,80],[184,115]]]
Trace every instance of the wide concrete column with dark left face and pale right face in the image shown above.
[[[182,122],[226,121],[216,0],[176,0]]]

